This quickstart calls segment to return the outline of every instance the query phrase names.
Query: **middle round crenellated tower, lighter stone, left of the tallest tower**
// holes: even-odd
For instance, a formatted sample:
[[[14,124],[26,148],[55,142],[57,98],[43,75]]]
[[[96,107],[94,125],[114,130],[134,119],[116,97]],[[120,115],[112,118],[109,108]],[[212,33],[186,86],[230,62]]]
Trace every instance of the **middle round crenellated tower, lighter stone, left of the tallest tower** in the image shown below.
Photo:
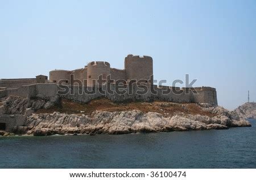
[[[107,76],[110,75],[110,64],[104,61],[89,62],[87,67],[87,86],[95,86],[96,80],[100,75],[102,75],[103,82],[106,82]]]

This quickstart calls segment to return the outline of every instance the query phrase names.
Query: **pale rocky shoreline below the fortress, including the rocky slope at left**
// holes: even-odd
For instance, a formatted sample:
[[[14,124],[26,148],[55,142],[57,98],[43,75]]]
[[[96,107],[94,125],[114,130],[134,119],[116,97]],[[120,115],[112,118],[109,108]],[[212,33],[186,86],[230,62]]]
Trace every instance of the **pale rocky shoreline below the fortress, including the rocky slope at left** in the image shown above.
[[[159,112],[163,113],[143,112],[143,110],[138,109],[117,111],[96,109],[91,113],[73,114],[37,112],[39,109],[51,109],[53,105],[59,102],[60,100],[57,97],[51,100],[43,100],[43,98],[40,98],[40,100],[8,98],[3,104],[4,112],[7,114],[20,113],[26,116],[23,126],[14,127],[11,133],[34,136],[55,134],[96,135],[224,130],[230,127],[251,126],[248,121],[241,119],[236,112],[229,112],[220,106],[210,106],[209,104],[155,103],[162,107]],[[144,103],[143,105],[156,106],[155,104]],[[193,107],[191,108],[191,106]],[[201,114],[193,113],[189,108],[200,108]],[[172,110],[174,113],[166,113],[168,110],[169,112]],[[9,134],[2,132],[0,135],[13,135],[10,132],[7,133]]]

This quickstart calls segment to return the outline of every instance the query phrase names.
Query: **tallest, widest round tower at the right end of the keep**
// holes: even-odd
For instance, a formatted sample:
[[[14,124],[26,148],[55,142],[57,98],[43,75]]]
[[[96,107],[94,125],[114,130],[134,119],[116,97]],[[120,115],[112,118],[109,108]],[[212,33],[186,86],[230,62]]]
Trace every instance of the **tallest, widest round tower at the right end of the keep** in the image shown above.
[[[132,79],[144,79],[145,83],[153,83],[150,76],[153,75],[153,59],[150,56],[129,54],[125,58],[125,70],[127,81]],[[153,78],[153,77],[152,77]]]

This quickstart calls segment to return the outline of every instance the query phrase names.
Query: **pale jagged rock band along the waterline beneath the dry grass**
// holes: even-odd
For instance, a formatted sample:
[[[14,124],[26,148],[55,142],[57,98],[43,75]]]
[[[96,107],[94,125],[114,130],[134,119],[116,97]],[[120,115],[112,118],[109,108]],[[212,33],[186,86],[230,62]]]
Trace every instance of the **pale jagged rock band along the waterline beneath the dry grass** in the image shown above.
[[[212,109],[215,110],[215,109]],[[129,134],[137,132],[168,132],[188,130],[227,129],[250,126],[248,121],[230,119],[217,110],[214,117],[205,115],[177,114],[163,117],[159,113],[142,113],[138,110],[126,112],[93,112],[77,114],[33,114],[27,118],[27,134]]]

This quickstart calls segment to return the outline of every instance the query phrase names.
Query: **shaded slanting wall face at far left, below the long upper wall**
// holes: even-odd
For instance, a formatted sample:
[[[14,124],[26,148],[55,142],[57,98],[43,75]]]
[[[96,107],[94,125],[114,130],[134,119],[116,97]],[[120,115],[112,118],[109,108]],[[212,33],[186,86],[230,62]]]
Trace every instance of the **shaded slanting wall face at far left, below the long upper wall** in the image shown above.
[[[6,89],[7,96],[34,97],[36,96],[36,84],[23,85],[19,88]]]

